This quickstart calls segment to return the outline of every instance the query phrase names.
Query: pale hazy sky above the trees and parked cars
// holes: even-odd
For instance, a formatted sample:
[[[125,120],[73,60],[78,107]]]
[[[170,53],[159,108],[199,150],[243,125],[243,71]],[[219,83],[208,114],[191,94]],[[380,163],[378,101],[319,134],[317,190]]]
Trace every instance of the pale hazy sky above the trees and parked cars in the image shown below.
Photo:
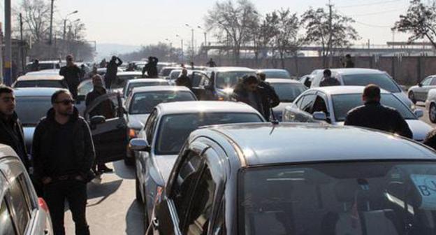
[[[48,1],[48,0],[46,0]],[[259,13],[279,8],[291,8],[302,14],[310,6],[326,7],[328,0],[252,0]],[[71,20],[80,18],[87,26],[88,40],[98,43],[146,45],[166,41],[180,44],[176,34],[190,40],[191,31],[184,24],[203,26],[204,16],[215,0],[55,0],[61,18],[78,10]],[[332,0],[340,13],[354,17],[361,42],[384,44],[391,41],[391,27],[400,13],[405,13],[407,0]],[[196,30],[197,43],[203,42],[203,31]],[[405,40],[405,35],[395,35],[395,41]],[[213,39],[211,39],[213,41]]]

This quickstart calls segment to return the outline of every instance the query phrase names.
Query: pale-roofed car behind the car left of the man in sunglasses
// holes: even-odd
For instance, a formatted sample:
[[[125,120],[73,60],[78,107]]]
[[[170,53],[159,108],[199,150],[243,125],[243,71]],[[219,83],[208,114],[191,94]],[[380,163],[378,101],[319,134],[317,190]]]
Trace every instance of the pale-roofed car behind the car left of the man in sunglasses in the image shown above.
[[[57,87],[68,88],[64,76],[48,75],[44,73],[34,73],[31,75],[23,75],[17,78],[12,87]]]

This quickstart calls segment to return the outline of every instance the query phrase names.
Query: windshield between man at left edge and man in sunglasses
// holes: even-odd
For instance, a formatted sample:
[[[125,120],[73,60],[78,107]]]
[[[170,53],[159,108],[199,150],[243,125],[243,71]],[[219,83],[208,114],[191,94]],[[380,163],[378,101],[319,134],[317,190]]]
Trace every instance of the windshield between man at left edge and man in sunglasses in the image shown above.
[[[50,108],[50,97],[16,97],[15,111],[24,127],[36,126]]]

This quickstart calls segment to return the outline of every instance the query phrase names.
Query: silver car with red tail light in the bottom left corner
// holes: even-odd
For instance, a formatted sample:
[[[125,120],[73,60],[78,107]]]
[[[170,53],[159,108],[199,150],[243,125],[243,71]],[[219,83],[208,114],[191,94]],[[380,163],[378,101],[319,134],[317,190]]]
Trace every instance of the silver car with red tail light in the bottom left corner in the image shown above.
[[[50,211],[38,198],[12,148],[0,144],[0,234],[53,234]]]

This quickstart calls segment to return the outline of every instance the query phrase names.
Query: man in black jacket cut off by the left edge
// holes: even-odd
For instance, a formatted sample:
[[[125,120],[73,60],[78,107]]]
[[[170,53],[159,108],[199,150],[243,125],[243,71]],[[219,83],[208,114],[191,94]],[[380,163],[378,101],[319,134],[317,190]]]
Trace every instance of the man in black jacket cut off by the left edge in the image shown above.
[[[22,124],[15,113],[15,96],[12,88],[3,85],[0,85],[0,143],[13,148],[29,170]]]

